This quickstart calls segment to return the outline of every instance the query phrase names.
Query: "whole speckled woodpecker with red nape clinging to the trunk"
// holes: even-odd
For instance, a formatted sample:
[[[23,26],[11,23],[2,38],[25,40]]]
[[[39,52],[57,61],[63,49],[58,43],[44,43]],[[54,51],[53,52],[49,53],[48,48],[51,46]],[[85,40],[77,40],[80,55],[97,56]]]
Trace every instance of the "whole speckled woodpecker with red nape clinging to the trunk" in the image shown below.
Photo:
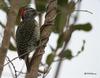
[[[35,20],[38,12],[31,7],[23,7],[19,10],[19,15],[22,21],[16,30],[17,52],[29,70],[29,53],[36,49],[40,40],[40,27]]]

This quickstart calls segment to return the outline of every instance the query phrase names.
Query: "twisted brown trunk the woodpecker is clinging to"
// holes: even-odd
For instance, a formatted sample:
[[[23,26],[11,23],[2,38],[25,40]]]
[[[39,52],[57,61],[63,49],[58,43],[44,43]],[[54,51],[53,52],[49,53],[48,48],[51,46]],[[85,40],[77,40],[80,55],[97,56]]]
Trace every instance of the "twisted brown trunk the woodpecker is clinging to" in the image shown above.
[[[38,76],[38,68],[44,53],[44,48],[47,44],[49,36],[52,32],[52,27],[54,25],[54,19],[56,17],[56,7],[57,7],[57,0],[48,0],[45,23],[41,27],[41,38],[40,38],[41,44],[36,49],[36,52],[32,57],[31,70],[29,73],[26,74],[26,78],[37,78]]]

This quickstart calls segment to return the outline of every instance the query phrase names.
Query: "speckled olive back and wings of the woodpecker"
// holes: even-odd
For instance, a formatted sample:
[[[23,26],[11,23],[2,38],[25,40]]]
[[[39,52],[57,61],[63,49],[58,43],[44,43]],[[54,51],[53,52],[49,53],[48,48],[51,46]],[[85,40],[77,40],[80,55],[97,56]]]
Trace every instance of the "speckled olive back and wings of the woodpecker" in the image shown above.
[[[22,55],[26,52],[31,52],[34,48],[37,40],[34,36],[36,24],[33,21],[22,21],[16,31],[16,43],[18,55]],[[25,55],[20,57],[24,59]]]

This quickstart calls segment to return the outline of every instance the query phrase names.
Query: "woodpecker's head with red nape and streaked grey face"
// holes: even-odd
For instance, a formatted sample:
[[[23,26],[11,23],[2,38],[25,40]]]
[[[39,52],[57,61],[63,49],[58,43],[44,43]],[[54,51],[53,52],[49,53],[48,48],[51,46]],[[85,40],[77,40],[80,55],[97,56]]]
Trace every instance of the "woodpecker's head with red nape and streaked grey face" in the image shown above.
[[[19,9],[19,15],[21,16],[22,20],[34,19],[35,16],[38,15],[38,12],[31,7],[22,7]]]

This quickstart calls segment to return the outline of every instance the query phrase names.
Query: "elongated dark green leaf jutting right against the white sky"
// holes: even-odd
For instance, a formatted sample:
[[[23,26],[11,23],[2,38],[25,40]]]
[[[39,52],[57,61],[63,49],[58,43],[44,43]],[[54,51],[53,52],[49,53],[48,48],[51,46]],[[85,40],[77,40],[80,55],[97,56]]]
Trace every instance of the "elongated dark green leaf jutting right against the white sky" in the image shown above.
[[[78,25],[74,25],[73,29],[74,30],[83,30],[83,31],[89,32],[90,30],[92,30],[92,25],[90,23],[78,24]]]

